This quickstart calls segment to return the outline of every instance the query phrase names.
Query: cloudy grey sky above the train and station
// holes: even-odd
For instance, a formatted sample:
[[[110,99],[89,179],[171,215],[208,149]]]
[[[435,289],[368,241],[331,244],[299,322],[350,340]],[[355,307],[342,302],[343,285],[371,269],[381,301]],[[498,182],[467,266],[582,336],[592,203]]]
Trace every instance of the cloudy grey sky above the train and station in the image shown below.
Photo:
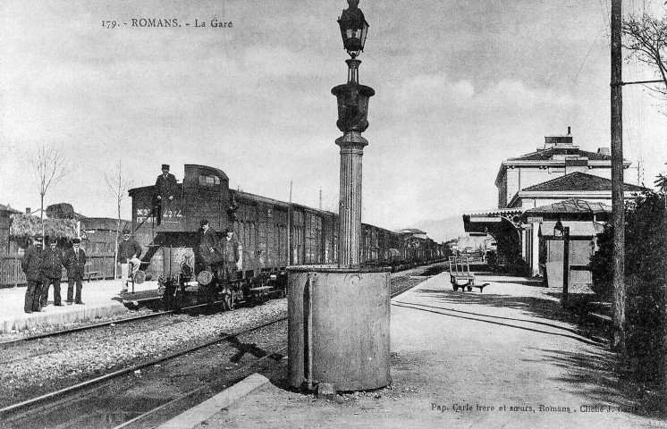
[[[160,164],[223,169],[233,189],[335,209],[330,90],[346,80],[340,1],[27,1],[0,4],[0,203],[38,207],[26,153],[63,147],[74,172],[46,205],[114,216],[105,174],[138,186]],[[416,226],[497,206],[503,159],[572,128],[609,146],[610,0],[362,0],[360,80],[376,89],[364,133],[363,221]],[[662,2],[625,12],[664,13]],[[176,19],[180,28],[131,20]],[[210,23],[232,21],[232,28]],[[102,21],[116,21],[106,29]],[[194,28],[194,21],[207,27]],[[128,25],[124,25],[127,22]],[[190,23],[190,26],[186,26]],[[652,79],[629,59],[624,80]],[[646,184],[663,172],[667,111],[624,88],[624,154]],[[637,170],[627,181],[637,182]],[[130,217],[130,208],[123,208]],[[437,237],[436,237],[437,239]]]

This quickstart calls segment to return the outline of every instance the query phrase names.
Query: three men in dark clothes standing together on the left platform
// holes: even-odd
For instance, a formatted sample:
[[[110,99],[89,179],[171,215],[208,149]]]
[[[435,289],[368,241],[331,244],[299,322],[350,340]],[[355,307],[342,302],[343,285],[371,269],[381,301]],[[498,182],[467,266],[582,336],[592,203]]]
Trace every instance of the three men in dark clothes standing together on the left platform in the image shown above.
[[[43,237],[32,238],[32,244],[26,248],[21,258],[21,269],[26,274],[28,287],[23,310],[26,313],[45,311],[48,290],[54,286],[54,306],[61,307],[60,281],[63,266],[67,270],[67,305],[84,303],[81,301],[83,270],[86,265],[86,252],[80,248],[80,239],[72,240],[72,248],[64,253],[58,248],[58,240],[49,240],[47,248],[42,248]],[[76,283],[76,297],[74,297]]]

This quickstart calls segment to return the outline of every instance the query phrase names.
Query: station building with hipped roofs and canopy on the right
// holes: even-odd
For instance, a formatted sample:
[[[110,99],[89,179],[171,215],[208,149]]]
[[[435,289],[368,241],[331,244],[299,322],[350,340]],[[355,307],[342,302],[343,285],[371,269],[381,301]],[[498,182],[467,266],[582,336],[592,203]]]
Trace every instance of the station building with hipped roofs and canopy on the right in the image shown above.
[[[623,168],[630,164],[623,160]],[[535,152],[502,161],[495,178],[498,208],[463,214],[465,231],[493,236],[499,263],[520,263],[528,274],[544,275],[548,265],[558,264],[559,251],[562,260],[562,241],[551,240],[561,221],[570,227],[570,261],[585,266],[595,236],[611,220],[611,177],[609,147],[583,150],[570,128],[566,135],[545,136]],[[643,189],[626,183],[625,198],[636,198]],[[578,274],[574,282],[590,282],[590,273]]]

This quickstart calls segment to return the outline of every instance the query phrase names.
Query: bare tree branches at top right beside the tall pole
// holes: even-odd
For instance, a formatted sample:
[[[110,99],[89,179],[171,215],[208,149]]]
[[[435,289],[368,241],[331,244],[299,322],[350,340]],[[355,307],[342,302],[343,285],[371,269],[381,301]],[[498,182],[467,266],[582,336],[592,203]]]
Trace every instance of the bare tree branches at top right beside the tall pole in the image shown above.
[[[662,84],[650,88],[667,97],[667,17],[654,18],[643,13],[628,16],[621,27],[623,47],[641,63],[655,71]]]

